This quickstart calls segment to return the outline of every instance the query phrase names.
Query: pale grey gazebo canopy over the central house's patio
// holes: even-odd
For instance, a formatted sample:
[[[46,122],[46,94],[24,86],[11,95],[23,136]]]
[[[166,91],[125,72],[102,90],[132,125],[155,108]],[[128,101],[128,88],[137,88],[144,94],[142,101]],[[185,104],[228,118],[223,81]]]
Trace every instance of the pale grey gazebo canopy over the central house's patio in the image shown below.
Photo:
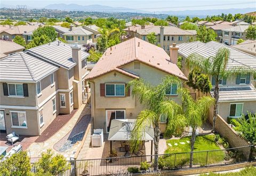
[[[111,121],[108,140],[129,141],[136,119],[113,119]],[[146,126],[142,140],[154,140],[153,126]]]

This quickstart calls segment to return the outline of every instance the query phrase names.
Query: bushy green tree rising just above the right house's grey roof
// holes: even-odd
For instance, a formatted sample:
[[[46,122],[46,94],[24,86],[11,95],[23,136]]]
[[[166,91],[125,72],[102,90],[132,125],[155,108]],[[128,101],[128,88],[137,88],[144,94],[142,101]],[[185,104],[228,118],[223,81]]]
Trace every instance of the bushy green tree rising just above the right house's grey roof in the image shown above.
[[[214,32],[214,30],[210,28],[206,28],[205,26],[199,26],[196,32],[197,41],[201,41],[204,43],[216,41],[217,34]]]

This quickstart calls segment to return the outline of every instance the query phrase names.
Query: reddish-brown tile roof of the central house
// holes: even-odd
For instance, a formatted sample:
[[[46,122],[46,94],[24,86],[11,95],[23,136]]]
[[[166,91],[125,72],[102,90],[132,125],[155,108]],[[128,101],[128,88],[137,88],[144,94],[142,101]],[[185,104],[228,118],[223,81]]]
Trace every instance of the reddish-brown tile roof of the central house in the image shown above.
[[[133,61],[145,63],[167,74],[187,80],[178,66],[170,62],[169,55],[161,47],[150,44],[137,37],[109,47],[85,78],[92,79],[110,71],[118,71],[127,76],[139,78],[138,75],[122,68],[127,63]]]

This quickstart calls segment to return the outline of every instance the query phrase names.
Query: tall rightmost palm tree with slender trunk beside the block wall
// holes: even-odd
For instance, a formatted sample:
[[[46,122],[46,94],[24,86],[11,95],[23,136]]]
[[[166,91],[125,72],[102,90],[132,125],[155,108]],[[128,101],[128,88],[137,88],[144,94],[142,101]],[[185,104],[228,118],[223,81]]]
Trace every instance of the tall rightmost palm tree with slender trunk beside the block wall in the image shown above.
[[[227,78],[236,74],[256,74],[256,71],[249,66],[237,66],[227,69],[227,63],[229,60],[229,49],[227,47],[221,47],[214,57],[204,58],[197,53],[190,54],[187,58],[187,66],[189,68],[198,68],[201,73],[211,75],[215,81],[214,87],[214,110],[213,110],[213,127],[212,132],[215,131],[215,121],[217,116],[218,100],[219,100],[219,81],[222,78]]]

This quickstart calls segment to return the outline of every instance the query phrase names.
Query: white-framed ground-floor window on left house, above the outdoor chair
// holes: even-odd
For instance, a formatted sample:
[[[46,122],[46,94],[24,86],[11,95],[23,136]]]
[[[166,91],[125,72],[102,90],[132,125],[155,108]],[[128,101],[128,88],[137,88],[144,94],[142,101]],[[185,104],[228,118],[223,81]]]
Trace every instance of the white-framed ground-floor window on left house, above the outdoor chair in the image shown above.
[[[10,111],[12,126],[14,127],[27,127],[27,119],[25,111]]]

